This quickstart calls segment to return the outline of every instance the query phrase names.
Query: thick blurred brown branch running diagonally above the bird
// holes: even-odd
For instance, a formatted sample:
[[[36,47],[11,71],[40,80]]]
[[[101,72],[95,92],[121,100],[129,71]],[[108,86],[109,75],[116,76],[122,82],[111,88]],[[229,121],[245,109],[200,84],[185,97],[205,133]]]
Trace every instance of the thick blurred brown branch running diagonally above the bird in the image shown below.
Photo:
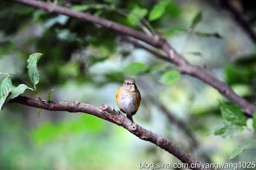
[[[25,4],[27,6],[32,6],[38,9],[43,9],[48,11],[49,13],[53,12],[58,14],[64,14],[66,16],[73,17],[79,20],[89,21],[91,23],[99,24],[117,33],[134,37],[135,39],[144,41],[145,43],[148,43],[151,46],[160,48],[163,51],[165,51],[167,56],[171,59],[172,63],[177,65],[180,73],[197,77],[198,79],[204,81],[205,83],[217,89],[221,94],[226,96],[232,102],[239,105],[244,111],[244,113],[247,114],[247,116],[252,116],[253,114],[255,105],[249,103],[242,97],[238,96],[226,83],[217,79],[212,73],[210,73],[204,67],[194,66],[188,63],[188,61],[184,59],[183,56],[178,54],[173,49],[173,47],[171,47],[170,44],[168,44],[167,41],[159,35],[148,36],[147,34],[141,31],[132,29],[130,27],[124,26],[119,23],[115,23],[113,21],[92,16],[89,13],[75,11],[66,7],[60,7],[53,4],[44,3],[42,1],[37,1],[37,0],[13,0],[13,1]]]

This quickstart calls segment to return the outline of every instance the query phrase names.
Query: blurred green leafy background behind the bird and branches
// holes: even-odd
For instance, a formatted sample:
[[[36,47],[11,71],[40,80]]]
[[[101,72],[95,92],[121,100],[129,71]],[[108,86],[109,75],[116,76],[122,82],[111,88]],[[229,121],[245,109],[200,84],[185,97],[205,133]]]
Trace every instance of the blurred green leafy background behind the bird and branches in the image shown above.
[[[26,90],[25,96],[37,97],[36,89],[42,99],[49,99],[50,92],[51,100],[118,108],[115,92],[124,78],[133,77],[142,94],[135,122],[167,136],[198,160],[256,160],[256,116],[247,119],[239,107],[224,101],[212,87],[179,75],[175,66],[120,42],[109,30],[7,0],[1,2],[0,71],[16,75],[0,74],[1,83],[7,82],[3,86],[7,91],[13,93],[15,87],[21,92],[27,89],[18,85],[24,83],[21,79],[31,82],[27,60],[33,53],[44,54],[36,67],[40,82],[32,79],[33,88],[29,87],[32,90]],[[136,29],[141,29],[142,24],[150,31],[162,33],[187,60],[206,66],[236,93],[255,103],[255,45],[211,1],[59,0],[58,4]],[[246,3],[240,5],[244,13],[253,8]],[[36,68],[32,70],[37,72]],[[10,86],[10,78],[15,87]],[[3,94],[0,98],[5,100],[7,96]],[[1,104],[4,100],[0,100]],[[159,104],[186,124],[198,141],[196,147],[184,133],[184,127],[167,119]],[[0,112],[0,169],[129,170],[139,169],[140,161],[180,162],[153,144],[96,117],[39,112],[20,104],[4,104]]]

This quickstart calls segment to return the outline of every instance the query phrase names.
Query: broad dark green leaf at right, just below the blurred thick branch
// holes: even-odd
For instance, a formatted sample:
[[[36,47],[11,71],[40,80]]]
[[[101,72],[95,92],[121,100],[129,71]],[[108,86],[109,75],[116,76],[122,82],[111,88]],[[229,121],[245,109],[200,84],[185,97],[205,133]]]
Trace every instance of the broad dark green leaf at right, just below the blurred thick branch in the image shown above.
[[[232,102],[220,101],[220,111],[222,117],[229,121],[231,124],[236,124],[238,126],[246,126],[246,116],[244,116],[243,111],[239,106]]]

